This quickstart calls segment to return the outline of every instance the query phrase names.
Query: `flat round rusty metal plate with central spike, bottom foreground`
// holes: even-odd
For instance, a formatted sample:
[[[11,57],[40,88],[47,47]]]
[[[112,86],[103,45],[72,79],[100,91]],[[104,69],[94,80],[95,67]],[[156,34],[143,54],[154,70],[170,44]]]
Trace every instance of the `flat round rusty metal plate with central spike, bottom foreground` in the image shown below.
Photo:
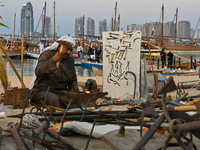
[[[164,115],[163,115],[164,117]],[[121,127],[120,127],[121,128]],[[106,133],[101,137],[101,140],[104,141],[107,145],[109,145],[114,150],[132,150],[134,145],[136,145],[142,138],[140,137],[140,132],[134,129],[125,129],[122,136],[119,135],[119,130],[114,130]],[[148,131],[144,131],[145,135]],[[145,149],[159,149],[162,148],[165,143],[166,137],[159,133],[155,133],[153,138],[150,138],[149,142],[145,145]],[[141,146],[143,147],[143,146]],[[140,147],[140,148],[141,148]],[[137,150],[139,150],[138,148]]]

